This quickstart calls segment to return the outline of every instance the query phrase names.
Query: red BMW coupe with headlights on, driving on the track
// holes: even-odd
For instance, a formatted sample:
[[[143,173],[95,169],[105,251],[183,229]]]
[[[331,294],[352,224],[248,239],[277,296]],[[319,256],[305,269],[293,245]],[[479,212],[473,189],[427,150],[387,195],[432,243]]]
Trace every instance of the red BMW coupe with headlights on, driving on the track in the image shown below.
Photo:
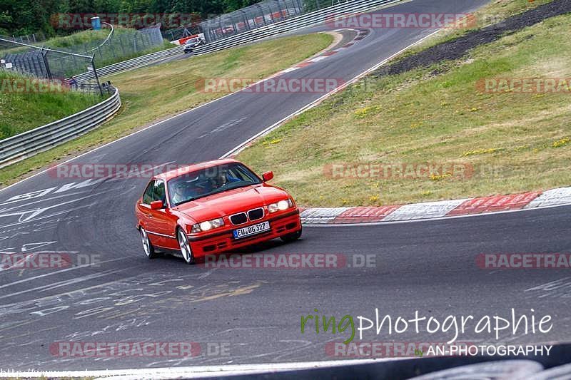
[[[236,160],[215,160],[156,175],[137,201],[137,229],[148,258],[157,251],[197,257],[280,237],[301,236],[298,207]]]

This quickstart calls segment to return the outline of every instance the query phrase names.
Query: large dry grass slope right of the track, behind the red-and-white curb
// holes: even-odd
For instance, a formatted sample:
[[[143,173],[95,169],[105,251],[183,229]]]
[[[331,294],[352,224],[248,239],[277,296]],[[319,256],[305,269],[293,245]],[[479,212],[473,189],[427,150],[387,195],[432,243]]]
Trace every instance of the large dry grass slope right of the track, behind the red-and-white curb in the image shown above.
[[[518,13],[517,4],[527,8],[495,1],[484,11],[510,5],[508,13]],[[405,204],[570,185],[571,91],[489,93],[477,86],[482,78],[570,78],[570,22],[570,15],[557,16],[455,61],[364,78],[238,159],[275,170],[276,184],[305,206]],[[328,165],[353,163],[458,163],[473,173],[326,174]]]

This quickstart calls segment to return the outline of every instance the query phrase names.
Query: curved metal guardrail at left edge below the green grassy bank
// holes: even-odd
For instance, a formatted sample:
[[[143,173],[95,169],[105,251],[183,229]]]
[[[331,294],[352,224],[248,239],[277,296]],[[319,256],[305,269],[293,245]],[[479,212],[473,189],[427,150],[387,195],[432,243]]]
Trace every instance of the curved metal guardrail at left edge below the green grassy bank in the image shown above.
[[[0,140],[0,168],[65,143],[111,118],[121,107],[119,91],[101,103],[19,135]]]

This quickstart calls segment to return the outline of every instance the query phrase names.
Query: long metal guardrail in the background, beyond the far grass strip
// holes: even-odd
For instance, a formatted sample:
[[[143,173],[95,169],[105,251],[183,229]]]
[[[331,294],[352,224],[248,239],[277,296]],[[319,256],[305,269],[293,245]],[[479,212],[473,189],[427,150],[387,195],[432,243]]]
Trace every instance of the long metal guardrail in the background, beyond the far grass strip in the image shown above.
[[[225,48],[231,48],[233,46],[238,46],[243,43],[256,41],[261,38],[276,36],[278,34],[283,34],[288,31],[295,31],[297,29],[305,28],[307,26],[320,24],[327,21],[328,18],[336,15],[355,14],[355,13],[363,13],[366,11],[373,11],[374,9],[377,9],[380,6],[398,3],[399,1],[402,0],[348,1],[343,4],[329,6],[327,8],[319,9],[317,11],[313,11],[308,14],[292,17],[291,19],[285,19],[283,21],[276,22],[275,24],[261,26],[260,28],[252,29],[251,31],[246,31],[241,34],[236,34],[235,36],[231,36],[228,38],[208,43],[205,46],[195,48],[194,54],[198,56],[202,54],[212,53],[213,51],[219,51]],[[139,68],[150,65],[152,63],[158,63],[164,61],[166,58],[170,58],[171,56],[176,56],[181,53],[183,53],[183,46],[177,46],[176,48],[170,48],[167,50],[158,51],[156,53],[147,54],[146,56],[140,56],[137,58],[130,59],[128,61],[115,63],[111,66],[98,68],[97,73],[98,76],[106,76],[114,73],[122,73],[123,71],[132,70],[133,68]],[[78,82],[84,82],[93,79],[94,74],[82,73],[79,76],[74,76],[74,78]]]

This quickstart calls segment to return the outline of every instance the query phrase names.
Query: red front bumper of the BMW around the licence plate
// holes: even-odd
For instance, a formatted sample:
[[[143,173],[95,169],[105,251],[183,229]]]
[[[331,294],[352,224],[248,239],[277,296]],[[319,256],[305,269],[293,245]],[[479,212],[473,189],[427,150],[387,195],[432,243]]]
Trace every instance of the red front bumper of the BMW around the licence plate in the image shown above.
[[[270,230],[241,239],[235,239],[232,235],[232,231],[236,230],[236,228],[248,227],[249,225],[256,225],[261,222],[270,222]],[[212,232],[208,235],[188,235],[188,241],[191,243],[194,256],[202,257],[204,255],[226,252],[258,242],[276,239],[276,237],[288,235],[300,229],[301,220],[299,210],[292,210],[283,212],[281,215],[268,215],[263,219],[248,222],[244,225],[233,226],[223,231]]]

